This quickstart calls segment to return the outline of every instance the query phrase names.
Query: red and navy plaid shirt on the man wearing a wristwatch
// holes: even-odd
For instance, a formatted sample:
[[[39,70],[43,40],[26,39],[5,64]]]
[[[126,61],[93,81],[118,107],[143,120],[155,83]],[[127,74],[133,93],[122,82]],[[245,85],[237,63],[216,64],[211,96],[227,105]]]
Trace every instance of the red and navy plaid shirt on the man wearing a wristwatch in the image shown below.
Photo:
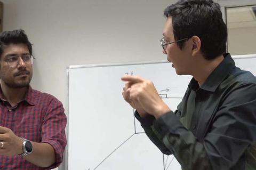
[[[10,128],[15,135],[30,141],[51,144],[56,157],[51,167],[42,168],[19,156],[0,155],[0,169],[39,170],[58,167],[67,144],[66,123],[62,103],[52,95],[33,90],[29,86],[25,98],[17,106],[11,107],[4,99],[0,87],[0,126]]]

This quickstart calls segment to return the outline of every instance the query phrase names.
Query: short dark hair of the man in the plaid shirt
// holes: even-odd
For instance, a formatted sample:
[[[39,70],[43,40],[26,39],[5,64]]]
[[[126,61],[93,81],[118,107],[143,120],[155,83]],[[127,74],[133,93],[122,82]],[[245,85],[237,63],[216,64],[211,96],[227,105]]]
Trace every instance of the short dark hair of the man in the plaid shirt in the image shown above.
[[[28,37],[24,30],[18,29],[13,31],[4,31],[0,34],[0,56],[4,51],[4,46],[20,43],[26,44],[28,46],[29,53],[32,55],[32,44],[28,41]]]

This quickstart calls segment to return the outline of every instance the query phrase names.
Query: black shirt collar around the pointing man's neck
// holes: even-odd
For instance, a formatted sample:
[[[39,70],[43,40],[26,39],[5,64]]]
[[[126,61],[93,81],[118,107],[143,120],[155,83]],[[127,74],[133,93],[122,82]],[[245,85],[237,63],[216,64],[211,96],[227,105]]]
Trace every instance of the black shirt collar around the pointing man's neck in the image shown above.
[[[235,61],[229,53],[226,53],[224,60],[212,71],[200,88],[205,91],[214,92],[234,67]],[[191,79],[188,86],[194,91],[199,88],[198,82],[194,78]]]

